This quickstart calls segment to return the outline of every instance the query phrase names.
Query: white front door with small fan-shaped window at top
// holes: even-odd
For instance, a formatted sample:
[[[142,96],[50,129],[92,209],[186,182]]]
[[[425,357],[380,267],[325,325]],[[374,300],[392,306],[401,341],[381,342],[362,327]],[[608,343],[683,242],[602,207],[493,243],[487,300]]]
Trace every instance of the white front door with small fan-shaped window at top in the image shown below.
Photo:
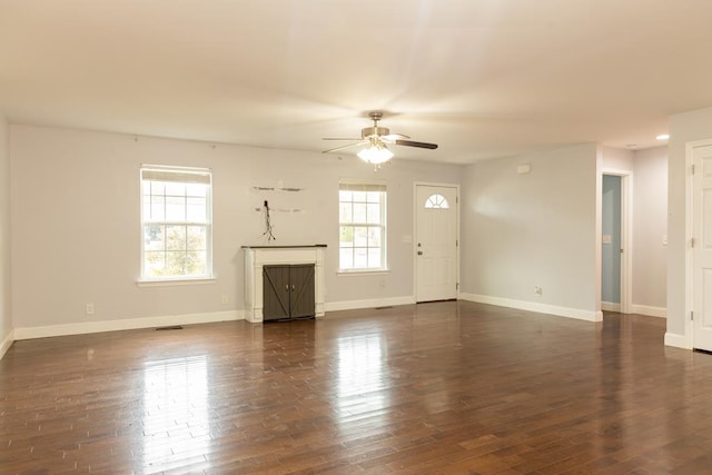
[[[457,298],[457,188],[416,185],[416,301]]]

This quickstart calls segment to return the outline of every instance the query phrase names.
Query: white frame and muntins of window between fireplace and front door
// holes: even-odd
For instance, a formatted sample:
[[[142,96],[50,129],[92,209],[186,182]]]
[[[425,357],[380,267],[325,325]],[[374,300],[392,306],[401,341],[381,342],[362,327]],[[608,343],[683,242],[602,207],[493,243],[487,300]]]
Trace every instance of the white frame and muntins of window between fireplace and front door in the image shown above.
[[[368,192],[368,194],[373,194],[373,192],[378,192],[379,199],[378,199],[378,204],[379,204],[379,217],[380,220],[378,222],[368,222],[368,219],[366,219],[366,222],[358,222],[358,221],[354,221],[353,217],[354,217],[354,212],[353,212],[353,205],[354,202],[357,204],[366,204],[366,201],[354,201],[352,200],[347,200],[344,201],[342,199],[342,191],[358,191],[358,192]],[[385,181],[379,181],[379,180],[356,180],[356,179],[340,179],[339,180],[339,224],[338,224],[338,229],[339,229],[339,248],[338,248],[338,253],[339,253],[339,257],[338,257],[338,271],[339,273],[344,273],[344,274],[363,274],[363,273],[374,273],[374,271],[387,271],[388,270],[388,261],[387,261],[387,216],[386,216],[386,209],[387,209],[387,198],[388,198],[388,194],[387,194],[387,188],[386,188],[386,184]],[[342,216],[342,206],[344,202],[350,202],[352,204],[352,220],[344,220],[344,216]],[[370,202],[373,205],[373,202]],[[380,231],[380,246],[376,247],[376,246],[369,246],[368,243],[366,243],[365,246],[342,246],[342,230],[344,227],[352,227],[354,230],[356,228],[378,228]],[[368,254],[368,249],[375,249],[378,248],[379,249],[379,260],[380,260],[380,266],[375,267],[368,267],[368,264],[366,265],[366,267],[355,267],[355,253],[357,249],[362,249],[366,251],[366,254]],[[346,249],[352,249],[352,263],[350,266],[349,265],[345,265],[344,259],[342,257],[342,253],[344,253]],[[367,260],[368,263],[368,260]]]

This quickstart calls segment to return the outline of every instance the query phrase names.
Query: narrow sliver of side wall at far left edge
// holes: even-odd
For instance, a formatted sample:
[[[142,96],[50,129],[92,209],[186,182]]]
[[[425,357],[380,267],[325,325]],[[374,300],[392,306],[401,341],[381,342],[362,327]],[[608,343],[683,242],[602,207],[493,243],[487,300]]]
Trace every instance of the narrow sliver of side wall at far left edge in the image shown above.
[[[9,126],[0,113],[0,357],[12,344]]]

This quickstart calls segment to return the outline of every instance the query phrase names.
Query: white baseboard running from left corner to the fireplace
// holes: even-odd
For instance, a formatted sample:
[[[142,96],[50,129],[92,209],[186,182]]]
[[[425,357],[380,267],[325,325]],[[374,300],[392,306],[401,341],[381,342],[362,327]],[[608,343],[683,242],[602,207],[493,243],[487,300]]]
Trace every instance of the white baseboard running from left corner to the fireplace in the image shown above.
[[[76,324],[50,325],[46,327],[16,328],[14,339],[46,338],[52,336],[82,335],[100,331],[131,330],[171,325],[208,324],[214,321],[241,319],[245,319],[244,310],[214,311],[210,314],[165,315],[102,321],[81,321]]]

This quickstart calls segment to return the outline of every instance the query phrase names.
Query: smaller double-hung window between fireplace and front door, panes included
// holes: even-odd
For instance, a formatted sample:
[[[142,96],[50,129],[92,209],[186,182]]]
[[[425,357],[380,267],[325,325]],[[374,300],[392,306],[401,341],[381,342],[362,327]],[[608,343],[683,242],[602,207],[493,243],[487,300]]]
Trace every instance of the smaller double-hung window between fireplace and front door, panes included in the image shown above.
[[[386,186],[340,181],[339,269],[385,270]]]

